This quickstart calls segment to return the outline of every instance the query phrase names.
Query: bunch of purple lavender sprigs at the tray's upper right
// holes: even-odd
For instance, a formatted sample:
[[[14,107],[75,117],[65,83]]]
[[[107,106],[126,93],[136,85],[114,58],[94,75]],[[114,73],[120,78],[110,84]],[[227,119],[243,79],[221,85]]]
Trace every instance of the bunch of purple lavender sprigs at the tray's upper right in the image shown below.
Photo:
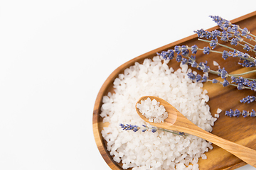
[[[251,42],[256,42],[256,36],[252,35],[252,33],[250,33],[247,28],[242,29],[240,28],[240,26],[232,24],[230,23],[230,21],[227,21],[219,16],[210,16],[210,18],[213,18],[213,21],[215,21],[215,23],[220,26],[221,30],[213,30],[210,32],[201,29],[195,31],[195,33],[197,33],[198,35],[198,40],[208,42],[210,47],[199,48],[197,45],[193,45],[191,47],[188,47],[187,45],[175,46],[174,50],[163,51],[160,54],[157,53],[157,55],[162,57],[163,60],[176,59],[177,62],[181,62],[181,64],[191,65],[191,67],[194,67],[204,73],[203,76],[201,76],[200,74],[194,74],[193,72],[189,72],[188,77],[193,81],[211,81],[213,84],[219,83],[223,86],[236,86],[238,90],[250,89],[252,91],[256,91],[256,79],[241,77],[242,75],[256,72],[256,69],[249,72],[243,72],[241,74],[229,74],[224,67],[222,69],[219,67],[218,70],[212,70],[207,65],[207,61],[200,63],[196,62],[196,56],[194,55],[196,55],[198,50],[201,50],[205,55],[210,54],[210,52],[220,54],[222,55],[224,60],[227,60],[228,57],[237,57],[240,59],[238,64],[240,64],[242,67],[256,67],[255,56],[249,55],[246,52],[241,52],[239,50],[236,50],[234,47],[230,47],[219,42],[219,40],[224,42],[230,42],[230,45],[242,46],[243,50],[247,52],[256,52],[256,45],[252,45],[251,43],[247,42],[248,40],[250,40]],[[202,38],[211,38],[212,40],[204,40]],[[214,50],[217,45],[225,47],[228,50]],[[191,51],[193,55],[190,56],[189,51]],[[223,79],[223,81],[218,81],[217,79],[208,79],[208,73],[218,75],[221,79]],[[231,81],[228,81],[228,77],[230,77]],[[242,98],[240,102],[252,103],[253,101],[256,101],[255,98],[255,96],[247,96],[245,98]],[[238,110],[230,110],[226,111],[225,115],[229,115],[230,117],[238,117],[239,115],[243,115],[243,117],[247,117],[249,115],[251,117],[255,117],[255,111],[252,110],[251,112],[240,112]]]

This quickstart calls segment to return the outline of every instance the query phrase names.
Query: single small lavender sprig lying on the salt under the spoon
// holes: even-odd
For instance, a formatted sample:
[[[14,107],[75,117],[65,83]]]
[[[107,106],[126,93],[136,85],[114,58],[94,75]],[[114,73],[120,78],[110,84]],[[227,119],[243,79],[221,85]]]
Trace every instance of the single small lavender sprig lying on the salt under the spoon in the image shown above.
[[[151,132],[156,132],[157,130],[161,130],[161,131],[164,131],[164,132],[171,132],[175,135],[181,135],[181,136],[184,136],[185,133],[184,132],[173,132],[173,131],[170,131],[170,130],[165,130],[163,128],[156,128],[156,127],[148,127],[146,125],[142,125],[142,127],[139,127],[137,125],[129,125],[129,124],[122,124],[120,123],[119,126],[121,126],[121,128],[123,130],[132,130],[134,132],[137,132],[139,129],[142,129],[142,132],[146,132],[146,131],[149,131],[151,130]]]

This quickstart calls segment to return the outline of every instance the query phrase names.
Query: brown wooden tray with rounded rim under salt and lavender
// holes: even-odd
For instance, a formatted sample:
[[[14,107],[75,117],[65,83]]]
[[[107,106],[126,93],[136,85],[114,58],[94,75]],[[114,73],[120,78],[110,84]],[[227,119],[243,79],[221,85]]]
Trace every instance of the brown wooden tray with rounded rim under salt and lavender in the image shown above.
[[[210,19],[210,18],[209,18]],[[250,32],[256,35],[256,11],[249,13],[245,16],[241,16],[240,18],[236,18],[235,20],[231,21],[232,23],[238,24],[240,28],[247,28]],[[199,28],[198,28],[199,29]],[[208,29],[209,31],[218,29],[218,26]],[[95,107],[93,111],[93,118],[92,118],[92,127],[95,136],[95,142],[97,147],[102,154],[102,157],[105,159],[105,162],[110,166],[111,169],[122,169],[122,164],[117,164],[113,161],[112,157],[110,156],[109,152],[106,149],[105,141],[102,138],[101,131],[104,126],[107,126],[107,123],[102,123],[102,118],[100,117],[100,108],[102,106],[102,97],[107,95],[108,91],[113,92],[113,81],[118,74],[122,73],[124,69],[128,68],[129,66],[133,65],[134,62],[142,63],[145,58],[152,58],[156,56],[156,52],[161,52],[163,50],[174,49],[175,45],[198,45],[198,47],[203,48],[209,46],[207,42],[201,42],[197,40],[197,35],[191,35],[187,38],[183,38],[176,42],[172,42],[169,45],[165,45],[163,47],[159,47],[156,50],[152,50],[151,52],[147,52],[144,55],[140,55],[129,62],[122,64],[120,67],[114,70],[110,77],[107,78],[105,83],[102,85],[99,94],[97,95],[95,101]],[[229,45],[229,42],[226,44]],[[240,51],[242,47],[235,47]],[[224,50],[223,47],[217,46],[215,50]],[[255,54],[250,53],[250,55],[255,56]],[[213,66],[213,61],[218,62],[220,67],[225,67],[228,73],[235,74],[244,72],[246,70],[250,70],[251,68],[244,68],[240,67],[237,64],[238,59],[228,57],[227,60],[223,60],[221,55],[210,53],[209,55],[203,55],[203,52],[198,51],[196,54],[197,62],[205,62],[208,61],[208,65],[211,69],[218,69],[218,67]],[[169,67],[173,67],[174,69],[178,69],[179,63],[176,61],[169,62]],[[247,77],[256,77],[256,74],[248,74]],[[210,79],[217,78],[214,75],[210,76]],[[255,94],[255,92],[250,90],[241,90],[238,91],[233,86],[223,87],[220,84],[212,84],[210,82],[204,84],[203,89],[208,91],[208,96],[210,97],[210,101],[208,101],[208,105],[210,106],[210,112],[214,115],[218,108],[221,108],[223,111],[220,113],[220,118],[216,120],[215,125],[213,126],[212,133],[219,137],[223,137],[226,140],[230,140],[232,142],[236,142],[240,145],[245,145],[246,147],[250,147],[252,149],[256,149],[256,118],[229,118],[225,115],[225,111],[232,108],[235,110],[246,110],[251,111],[252,108],[255,108],[255,103],[244,104],[240,103],[240,99],[247,96]],[[213,145],[213,149],[209,152],[206,152],[208,159],[199,159],[199,168],[200,169],[237,169],[240,166],[245,165],[245,162],[242,162],[237,157],[233,156],[229,152]],[[256,156],[256,155],[255,155]]]

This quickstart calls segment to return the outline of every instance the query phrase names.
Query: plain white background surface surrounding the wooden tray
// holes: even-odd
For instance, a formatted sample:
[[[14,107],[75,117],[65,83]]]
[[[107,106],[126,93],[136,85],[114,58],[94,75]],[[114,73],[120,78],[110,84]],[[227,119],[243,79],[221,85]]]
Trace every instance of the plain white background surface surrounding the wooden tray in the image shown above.
[[[110,169],[92,134],[105,79],[215,26],[209,15],[252,11],[255,1],[0,1],[0,169]]]

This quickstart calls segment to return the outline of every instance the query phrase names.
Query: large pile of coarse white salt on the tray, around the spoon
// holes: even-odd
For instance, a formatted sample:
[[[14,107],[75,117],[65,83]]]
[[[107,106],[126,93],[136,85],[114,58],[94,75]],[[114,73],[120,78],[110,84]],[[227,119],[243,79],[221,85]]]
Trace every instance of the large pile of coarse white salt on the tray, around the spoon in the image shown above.
[[[151,127],[134,108],[140,97],[150,95],[168,101],[203,130],[212,130],[216,118],[206,104],[208,96],[201,88],[203,84],[188,79],[186,74],[191,69],[185,65],[176,72],[166,66],[159,57],[135,63],[119,74],[114,81],[114,93],[109,92],[102,100],[100,115],[103,122],[110,123],[102,130],[102,137],[114,161],[122,162],[123,169],[198,169],[198,158],[213,149],[210,142],[193,135],[179,136],[160,130],[133,132],[119,127],[119,123]]]

